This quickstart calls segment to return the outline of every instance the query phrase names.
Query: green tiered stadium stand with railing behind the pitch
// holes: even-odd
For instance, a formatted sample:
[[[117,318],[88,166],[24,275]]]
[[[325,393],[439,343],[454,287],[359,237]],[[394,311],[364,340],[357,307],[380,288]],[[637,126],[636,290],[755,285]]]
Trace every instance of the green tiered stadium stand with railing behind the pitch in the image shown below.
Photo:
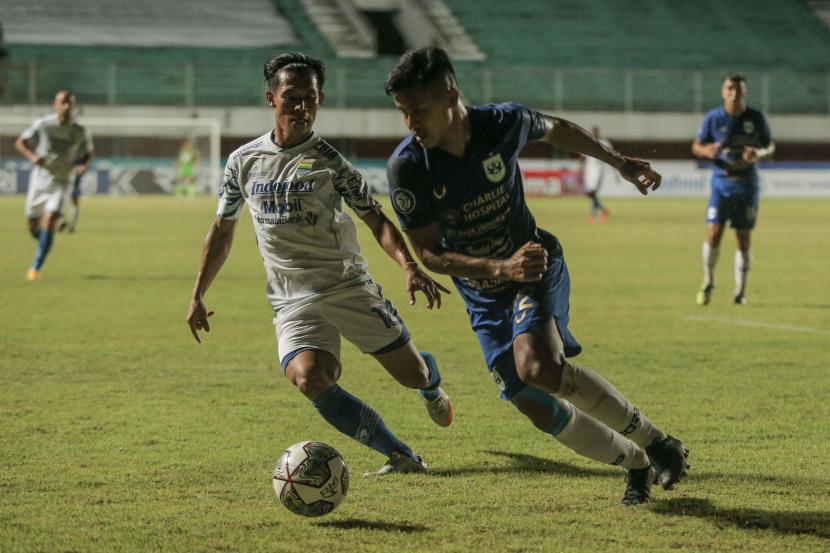
[[[259,105],[263,60],[297,49],[327,61],[329,105],[388,107],[380,83],[394,58],[338,55],[308,13],[315,1],[239,0],[228,10],[222,0],[180,0],[175,8],[147,0],[118,14],[113,6],[130,5],[125,0],[43,0],[30,20],[35,4],[0,0],[9,54],[0,104],[49,103],[58,83],[71,83],[86,104]],[[472,102],[699,112],[721,76],[738,70],[765,111],[830,112],[830,29],[802,0],[641,0],[636,9],[615,0],[418,2],[431,16],[443,14],[445,28],[462,27],[483,52],[479,61],[457,62]],[[69,26],[64,35],[72,37],[60,38],[57,30],[76,12],[88,19]],[[21,17],[29,23],[11,25],[10,32]],[[100,38],[102,29],[122,29],[125,17],[129,36],[156,45],[115,46]],[[217,31],[217,21],[228,27]],[[271,34],[249,33],[248,25]],[[55,29],[48,42],[44,28]],[[171,38],[178,29],[180,38]],[[79,37],[95,44],[79,44]]]

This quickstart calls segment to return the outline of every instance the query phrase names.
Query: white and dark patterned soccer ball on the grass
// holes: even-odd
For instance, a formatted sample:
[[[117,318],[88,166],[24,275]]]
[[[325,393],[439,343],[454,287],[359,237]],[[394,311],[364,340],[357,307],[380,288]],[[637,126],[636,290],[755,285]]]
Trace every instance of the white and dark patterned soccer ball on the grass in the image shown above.
[[[340,505],[349,489],[349,468],[322,442],[300,442],[283,452],[274,469],[274,491],[292,513],[319,517]]]

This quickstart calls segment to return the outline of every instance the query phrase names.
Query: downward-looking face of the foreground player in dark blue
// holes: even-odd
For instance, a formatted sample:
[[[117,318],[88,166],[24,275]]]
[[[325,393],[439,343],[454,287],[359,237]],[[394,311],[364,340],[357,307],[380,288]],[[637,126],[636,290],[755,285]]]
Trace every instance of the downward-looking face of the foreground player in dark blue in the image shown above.
[[[452,123],[458,91],[444,85],[413,86],[395,93],[395,107],[424,148],[439,146]]]

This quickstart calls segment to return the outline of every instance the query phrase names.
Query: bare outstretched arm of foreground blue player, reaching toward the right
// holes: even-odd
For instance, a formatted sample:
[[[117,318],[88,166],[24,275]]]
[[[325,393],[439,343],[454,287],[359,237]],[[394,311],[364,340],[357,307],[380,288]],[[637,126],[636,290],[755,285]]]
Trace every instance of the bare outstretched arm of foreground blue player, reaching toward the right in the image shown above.
[[[662,177],[642,159],[627,157],[603,145],[579,125],[559,117],[543,115],[545,134],[541,140],[562,150],[595,157],[616,169],[620,176],[634,184],[641,194],[660,187]]]

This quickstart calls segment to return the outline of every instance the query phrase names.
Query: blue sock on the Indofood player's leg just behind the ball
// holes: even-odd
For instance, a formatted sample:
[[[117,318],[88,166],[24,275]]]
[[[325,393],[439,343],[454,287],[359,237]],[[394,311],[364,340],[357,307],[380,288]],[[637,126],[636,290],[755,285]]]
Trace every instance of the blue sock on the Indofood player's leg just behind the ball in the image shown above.
[[[380,415],[335,384],[311,402],[326,421],[343,434],[366,444],[387,457],[399,451],[417,459],[409,447],[386,428]]]

